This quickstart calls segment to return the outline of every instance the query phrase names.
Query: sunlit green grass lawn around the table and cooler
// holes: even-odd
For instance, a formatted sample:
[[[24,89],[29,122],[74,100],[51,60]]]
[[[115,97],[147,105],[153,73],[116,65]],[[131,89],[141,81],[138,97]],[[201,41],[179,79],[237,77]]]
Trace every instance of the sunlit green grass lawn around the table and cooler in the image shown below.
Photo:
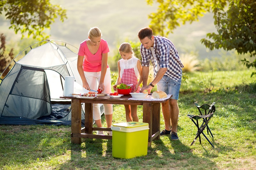
[[[213,72],[214,89],[204,92],[200,84],[209,73],[189,73],[178,100],[180,140],[160,137],[146,156],[133,159],[112,157],[112,140],[84,139],[71,144],[70,126],[0,126],[0,169],[255,169],[256,81],[251,72]],[[197,114],[194,105],[216,102],[209,122],[215,148],[202,136],[190,146],[196,127],[187,114]],[[138,106],[142,122],[142,107]],[[113,123],[125,122],[123,105],[114,105]],[[103,126],[106,126],[102,116]],[[161,129],[164,129],[161,114]],[[205,134],[206,131],[205,131]]]

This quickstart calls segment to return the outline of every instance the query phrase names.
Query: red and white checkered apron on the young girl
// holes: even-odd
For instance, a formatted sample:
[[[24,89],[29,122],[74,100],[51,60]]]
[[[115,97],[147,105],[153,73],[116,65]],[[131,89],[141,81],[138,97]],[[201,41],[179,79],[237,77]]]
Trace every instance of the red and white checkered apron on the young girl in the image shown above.
[[[124,69],[123,76],[120,83],[130,85],[132,87],[132,92],[135,90],[135,86],[138,84],[138,78],[136,77],[134,68]],[[140,92],[140,86],[136,92]]]

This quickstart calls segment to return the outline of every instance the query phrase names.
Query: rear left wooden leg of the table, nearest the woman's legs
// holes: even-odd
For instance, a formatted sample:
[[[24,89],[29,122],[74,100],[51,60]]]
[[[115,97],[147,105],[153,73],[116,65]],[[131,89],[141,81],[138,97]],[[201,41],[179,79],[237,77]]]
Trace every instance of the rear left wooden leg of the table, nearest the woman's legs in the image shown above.
[[[92,103],[84,103],[84,128],[85,133],[92,134]]]

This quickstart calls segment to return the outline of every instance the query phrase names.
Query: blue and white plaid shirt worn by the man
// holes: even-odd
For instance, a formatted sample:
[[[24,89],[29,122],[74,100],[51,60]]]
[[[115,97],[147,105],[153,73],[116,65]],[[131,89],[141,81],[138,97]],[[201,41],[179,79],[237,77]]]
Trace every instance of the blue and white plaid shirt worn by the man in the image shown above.
[[[170,40],[161,36],[154,36],[154,46],[157,63],[160,68],[167,68],[164,75],[178,81],[181,77],[181,69],[184,67],[180,61],[178,51]],[[154,66],[154,77],[157,73],[156,60],[153,58],[151,49],[140,45],[140,54],[142,57],[142,66],[149,67],[149,59]]]

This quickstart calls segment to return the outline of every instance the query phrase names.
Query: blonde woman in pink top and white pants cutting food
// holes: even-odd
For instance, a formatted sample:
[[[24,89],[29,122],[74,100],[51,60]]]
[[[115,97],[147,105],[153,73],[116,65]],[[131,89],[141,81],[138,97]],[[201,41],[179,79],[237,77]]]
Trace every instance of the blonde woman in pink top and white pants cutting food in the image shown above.
[[[108,43],[101,39],[98,27],[89,30],[88,39],[80,43],[77,59],[77,70],[87,90],[101,89],[102,93],[111,93],[111,76],[108,66]],[[112,104],[103,104],[107,127],[112,125]],[[97,127],[102,127],[99,104],[92,105],[93,120]],[[98,131],[103,135],[103,131]],[[112,132],[108,132],[112,134]]]

